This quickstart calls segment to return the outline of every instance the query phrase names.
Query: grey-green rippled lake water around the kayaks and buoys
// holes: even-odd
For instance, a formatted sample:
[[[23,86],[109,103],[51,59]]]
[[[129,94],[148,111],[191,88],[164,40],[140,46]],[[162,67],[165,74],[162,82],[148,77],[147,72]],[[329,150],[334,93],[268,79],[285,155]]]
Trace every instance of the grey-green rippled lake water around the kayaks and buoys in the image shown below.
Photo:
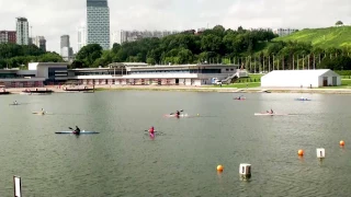
[[[0,96],[0,196],[348,196],[350,95],[116,91]],[[13,101],[23,105],[9,105]],[[33,115],[42,107],[48,115]],[[273,108],[292,116],[253,116]],[[166,118],[184,109],[189,118]],[[99,135],[56,135],[78,125]],[[151,139],[146,129],[155,126]],[[339,141],[344,140],[341,148]],[[316,149],[326,149],[317,159]],[[297,157],[304,149],[305,155]],[[252,177],[239,177],[240,163]],[[216,166],[224,165],[217,173]]]

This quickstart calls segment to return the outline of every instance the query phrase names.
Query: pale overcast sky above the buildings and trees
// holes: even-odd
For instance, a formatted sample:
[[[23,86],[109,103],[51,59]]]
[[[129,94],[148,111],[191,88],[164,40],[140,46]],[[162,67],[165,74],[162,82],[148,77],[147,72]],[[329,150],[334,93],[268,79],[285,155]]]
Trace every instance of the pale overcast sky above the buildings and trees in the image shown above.
[[[86,0],[0,0],[0,30],[15,30],[15,18],[27,18],[33,36],[43,35],[47,49],[59,53],[60,35],[86,21]],[[351,0],[109,0],[111,33],[121,30],[190,30],[250,27],[326,27],[338,20],[351,24]]]

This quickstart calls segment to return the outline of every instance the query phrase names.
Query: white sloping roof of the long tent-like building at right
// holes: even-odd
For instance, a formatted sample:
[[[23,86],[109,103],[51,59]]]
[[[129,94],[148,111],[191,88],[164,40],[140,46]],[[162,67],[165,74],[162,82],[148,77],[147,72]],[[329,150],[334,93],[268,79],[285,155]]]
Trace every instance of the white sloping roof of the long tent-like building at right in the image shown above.
[[[326,73],[332,73],[332,76],[339,76],[335,71],[330,69],[317,69],[317,70],[273,70],[270,73],[263,76],[262,78],[267,77],[275,77],[279,76],[280,78],[292,78],[292,77],[298,77],[298,78],[305,78],[305,77],[320,77]]]

